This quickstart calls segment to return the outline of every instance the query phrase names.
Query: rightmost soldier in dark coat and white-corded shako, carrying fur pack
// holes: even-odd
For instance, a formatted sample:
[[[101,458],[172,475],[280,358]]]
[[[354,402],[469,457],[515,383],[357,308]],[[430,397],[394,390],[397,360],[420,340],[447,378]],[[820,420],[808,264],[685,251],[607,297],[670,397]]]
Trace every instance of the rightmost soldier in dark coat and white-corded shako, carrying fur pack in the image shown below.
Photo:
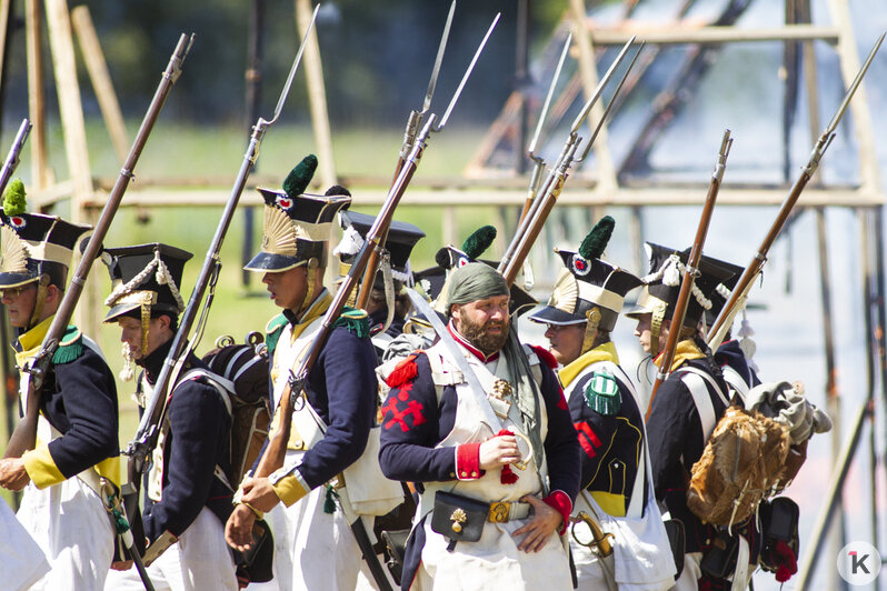
[[[729,393],[720,367],[699,335],[698,324],[704,310],[711,305],[717,286],[728,282],[734,271],[715,259],[702,257],[681,327],[671,325],[671,317],[680,292],[680,277],[686,270],[690,249],[676,251],[647,242],[650,273],[642,278],[644,292],[638,308],[627,315],[637,319],[635,335],[654,364],[661,363],[661,351],[671,330],[679,330],[675,359],[665,380],[650,402],[647,435],[652,465],[656,498],[664,503],[671,519],[685,527],[684,568],[677,589],[721,589],[729,581],[702,571],[700,562],[724,535],[702,523],[687,507],[687,483],[692,465],[702,454],[718,419],[729,407]],[[759,551],[750,523],[734,525],[730,535],[739,535],[740,550],[734,577],[750,577],[749,563]],[[709,585],[709,587],[704,587]],[[714,587],[711,587],[714,585]]]

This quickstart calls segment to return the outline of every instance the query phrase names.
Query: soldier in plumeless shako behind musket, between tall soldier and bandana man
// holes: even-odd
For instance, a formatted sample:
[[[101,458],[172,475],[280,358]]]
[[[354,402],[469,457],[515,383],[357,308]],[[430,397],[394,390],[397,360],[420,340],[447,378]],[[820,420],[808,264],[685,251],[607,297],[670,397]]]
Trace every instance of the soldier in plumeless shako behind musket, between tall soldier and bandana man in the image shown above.
[[[339,276],[345,277],[355,257],[363,248],[367,232],[376,218],[355,211],[341,211],[339,221],[343,234],[333,254],[340,260]],[[413,247],[422,238],[425,232],[411,223],[392,220],[388,229],[385,242],[386,254],[376,273],[366,310],[369,314],[370,337],[380,361],[388,344],[403,332],[403,323],[410,310],[409,298],[403,292],[403,287],[411,288],[413,284],[409,258]]]

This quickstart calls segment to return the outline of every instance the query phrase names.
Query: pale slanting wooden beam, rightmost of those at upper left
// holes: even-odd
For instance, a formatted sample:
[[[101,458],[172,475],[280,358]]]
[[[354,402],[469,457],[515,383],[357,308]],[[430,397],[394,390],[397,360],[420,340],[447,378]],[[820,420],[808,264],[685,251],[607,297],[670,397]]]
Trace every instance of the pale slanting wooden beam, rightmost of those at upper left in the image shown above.
[[[123,123],[123,114],[120,112],[120,103],[117,100],[111,76],[108,73],[108,63],[104,61],[99,36],[92,26],[92,18],[89,16],[89,8],[81,4],[71,10],[71,22],[73,23],[77,39],[80,42],[80,50],[83,52],[83,61],[87,64],[89,78],[92,80],[92,88],[96,98],[99,100],[101,116],[111,137],[117,159],[122,164],[129,156],[129,140],[127,140],[127,126]]]

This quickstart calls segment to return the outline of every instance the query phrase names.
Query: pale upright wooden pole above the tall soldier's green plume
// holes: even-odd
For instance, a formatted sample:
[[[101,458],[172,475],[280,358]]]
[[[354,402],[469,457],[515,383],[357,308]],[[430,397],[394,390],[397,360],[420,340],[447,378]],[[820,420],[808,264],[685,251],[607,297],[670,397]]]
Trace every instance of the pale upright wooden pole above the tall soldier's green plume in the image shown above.
[[[296,27],[303,36],[311,22],[311,0],[296,0]],[[323,86],[323,64],[320,61],[320,46],[317,42],[317,26],[311,30],[302,54],[302,66],[308,82],[308,101],[311,109],[311,123],[317,143],[318,170],[323,189],[336,184],[336,162],[332,158],[332,133],[327,112],[327,90]]]

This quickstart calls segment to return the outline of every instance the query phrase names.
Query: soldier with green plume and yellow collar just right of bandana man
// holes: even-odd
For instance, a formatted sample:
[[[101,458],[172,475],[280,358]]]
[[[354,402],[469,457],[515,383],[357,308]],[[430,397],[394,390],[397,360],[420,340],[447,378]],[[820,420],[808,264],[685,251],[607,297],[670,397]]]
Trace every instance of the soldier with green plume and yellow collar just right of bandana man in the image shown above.
[[[601,260],[612,228],[607,216],[578,252],[556,250],[565,269],[548,305],[529,319],[547,324],[582,448],[570,540],[579,589],[665,590],[675,583],[675,564],[652,494],[644,405],[610,341],[626,293],[641,282]],[[612,537],[592,551],[598,527]],[[604,555],[607,545],[612,552]]]

